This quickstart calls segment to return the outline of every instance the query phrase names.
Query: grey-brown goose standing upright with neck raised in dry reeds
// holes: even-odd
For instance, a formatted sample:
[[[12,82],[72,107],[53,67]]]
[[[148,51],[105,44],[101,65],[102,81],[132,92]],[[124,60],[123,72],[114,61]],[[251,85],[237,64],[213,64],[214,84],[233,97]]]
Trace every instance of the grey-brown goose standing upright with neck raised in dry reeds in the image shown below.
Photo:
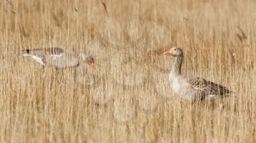
[[[218,85],[203,78],[181,75],[183,52],[180,47],[173,47],[164,54],[172,55],[176,58],[170,70],[169,82],[173,92],[178,94],[178,96],[187,98],[190,101],[197,101],[205,98],[212,100],[214,96],[219,95],[220,97],[224,97],[233,93],[225,86]]]

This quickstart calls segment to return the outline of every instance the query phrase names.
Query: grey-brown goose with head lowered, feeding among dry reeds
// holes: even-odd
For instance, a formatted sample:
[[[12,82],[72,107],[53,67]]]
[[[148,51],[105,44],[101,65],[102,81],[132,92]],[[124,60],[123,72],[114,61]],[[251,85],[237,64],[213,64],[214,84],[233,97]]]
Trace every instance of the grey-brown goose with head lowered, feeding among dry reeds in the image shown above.
[[[53,66],[56,69],[79,66],[82,62],[86,62],[92,68],[96,69],[94,58],[90,55],[84,53],[75,55],[61,47],[26,49],[22,50],[22,52],[24,56],[33,58],[43,66]]]

